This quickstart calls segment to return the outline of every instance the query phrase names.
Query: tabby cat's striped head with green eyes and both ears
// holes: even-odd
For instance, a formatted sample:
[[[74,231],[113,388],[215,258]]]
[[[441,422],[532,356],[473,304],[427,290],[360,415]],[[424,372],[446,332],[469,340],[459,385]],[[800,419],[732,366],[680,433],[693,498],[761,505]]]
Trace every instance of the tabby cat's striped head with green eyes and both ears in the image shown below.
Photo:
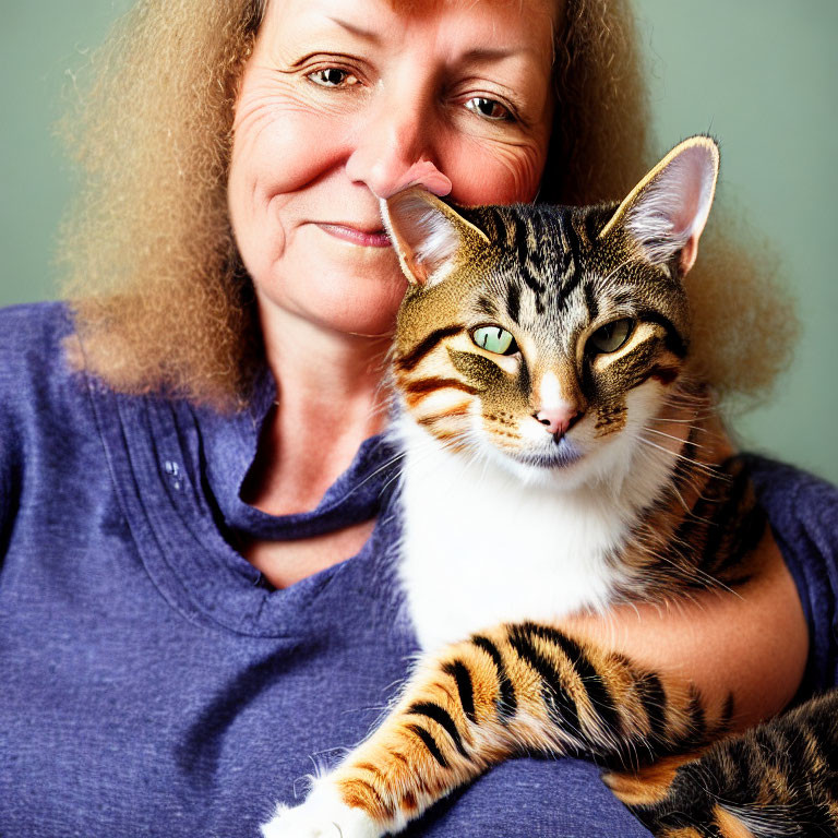
[[[409,288],[395,340],[412,419],[525,475],[606,472],[650,436],[689,349],[695,262],[718,147],[692,137],[620,204],[383,202]]]

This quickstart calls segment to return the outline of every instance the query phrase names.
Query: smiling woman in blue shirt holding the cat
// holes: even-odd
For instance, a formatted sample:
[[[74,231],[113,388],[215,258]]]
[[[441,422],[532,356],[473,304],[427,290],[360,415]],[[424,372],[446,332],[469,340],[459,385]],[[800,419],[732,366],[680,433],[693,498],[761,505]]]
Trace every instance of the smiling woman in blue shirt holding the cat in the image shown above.
[[[643,170],[632,47],[620,3],[579,0],[127,20],[71,124],[91,177],[64,235],[74,319],[2,315],[0,831],[255,835],[374,722],[415,650],[374,435],[403,291],[376,200],[621,194]],[[725,388],[702,323],[746,284],[716,285],[696,350]],[[755,344],[738,363],[765,381],[779,356]],[[745,722],[806,660],[792,578],[767,566],[744,601],[580,630],[733,689]],[[814,644],[810,681],[831,678]],[[645,834],[572,761],[504,765],[419,831],[602,833]]]

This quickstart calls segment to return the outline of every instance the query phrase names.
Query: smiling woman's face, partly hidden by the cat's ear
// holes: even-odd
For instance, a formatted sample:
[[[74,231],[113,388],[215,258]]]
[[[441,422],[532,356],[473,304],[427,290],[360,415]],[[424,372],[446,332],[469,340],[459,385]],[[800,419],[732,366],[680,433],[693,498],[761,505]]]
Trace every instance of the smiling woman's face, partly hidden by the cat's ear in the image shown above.
[[[536,194],[553,3],[417,5],[268,3],[241,81],[228,189],[263,314],[386,333],[405,285],[379,197],[417,181],[462,204]]]

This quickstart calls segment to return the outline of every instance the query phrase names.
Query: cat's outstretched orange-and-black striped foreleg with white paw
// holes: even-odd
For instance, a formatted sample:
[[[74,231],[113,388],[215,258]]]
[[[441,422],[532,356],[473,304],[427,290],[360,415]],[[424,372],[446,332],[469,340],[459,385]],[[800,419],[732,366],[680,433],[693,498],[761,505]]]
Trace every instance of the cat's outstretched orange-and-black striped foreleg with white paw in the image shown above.
[[[496,626],[428,658],[381,727],[263,833],[378,838],[512,755],[631,765],[717,738],[727,713],[554,627]]]

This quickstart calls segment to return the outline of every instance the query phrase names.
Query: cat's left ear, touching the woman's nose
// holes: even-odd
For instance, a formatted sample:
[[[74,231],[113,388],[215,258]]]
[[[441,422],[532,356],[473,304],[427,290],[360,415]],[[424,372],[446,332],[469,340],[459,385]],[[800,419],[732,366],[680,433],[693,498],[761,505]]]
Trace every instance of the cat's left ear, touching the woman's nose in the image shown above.
[[[489,243],[486,234],[420,187],[382,200],[381,216],[405,276],[418,285],[448,276],[464,247]]]

